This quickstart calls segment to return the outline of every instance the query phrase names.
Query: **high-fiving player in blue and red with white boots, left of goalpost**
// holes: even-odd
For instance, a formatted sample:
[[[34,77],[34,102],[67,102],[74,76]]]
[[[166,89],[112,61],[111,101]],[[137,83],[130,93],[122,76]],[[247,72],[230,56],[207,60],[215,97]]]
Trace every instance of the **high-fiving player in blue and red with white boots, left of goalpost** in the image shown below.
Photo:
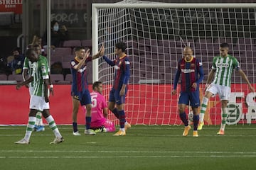
[[[85,135],[95,135],[94,130],[90,128],[91,123],[91,96],[87,85],[87,72],[86,64],[92,60],[100,57],[103,47],[96,55],[89,57],[90,49],[85,52],[85,47],[75,47],[75,58],[70,62],[70,69],[72,74],[72,88],[71,96],[73,100],[73,135],[79,136],[78,131],[78,109],[79,104],[82,107],[86,107],[86,125],[85,125]]]

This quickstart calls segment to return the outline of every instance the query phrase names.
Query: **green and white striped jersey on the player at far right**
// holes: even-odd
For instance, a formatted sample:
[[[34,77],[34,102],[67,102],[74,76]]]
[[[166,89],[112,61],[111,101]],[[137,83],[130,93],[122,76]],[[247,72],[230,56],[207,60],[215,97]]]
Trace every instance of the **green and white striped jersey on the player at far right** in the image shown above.
[[[215,69],[214,84],[221,86],[230,86],[231,75],[233,69],[240,69],[239,62],[235,57],[228,55],[227,57],[214,57],[212,69]]]

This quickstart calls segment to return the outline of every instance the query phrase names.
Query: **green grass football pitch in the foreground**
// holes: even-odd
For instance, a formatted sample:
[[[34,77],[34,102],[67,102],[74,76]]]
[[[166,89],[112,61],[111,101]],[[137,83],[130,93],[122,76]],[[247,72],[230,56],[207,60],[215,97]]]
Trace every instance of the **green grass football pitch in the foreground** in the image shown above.
[[[80,132],[83,132],[80,126]],[[73,136],[59,126],[65,142],[50,145],[50,128],[33,132],[31,144],[16,145],[25,126],[0,127],[0,169],[255,169],[256,125],[204,126],[199,137],[182,136],[183,126],[134,125],[127,135]]]

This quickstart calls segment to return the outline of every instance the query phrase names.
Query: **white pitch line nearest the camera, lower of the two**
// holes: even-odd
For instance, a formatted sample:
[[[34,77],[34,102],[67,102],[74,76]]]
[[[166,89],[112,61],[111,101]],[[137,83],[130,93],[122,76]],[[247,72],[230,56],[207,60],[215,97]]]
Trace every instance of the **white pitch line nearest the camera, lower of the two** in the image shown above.
[[[256,157],[256,155],[169,155],[169,156],[84,156],[84,157],[0,157],[0,159],[113,159],[113,158],[204,158],[204,157]]]

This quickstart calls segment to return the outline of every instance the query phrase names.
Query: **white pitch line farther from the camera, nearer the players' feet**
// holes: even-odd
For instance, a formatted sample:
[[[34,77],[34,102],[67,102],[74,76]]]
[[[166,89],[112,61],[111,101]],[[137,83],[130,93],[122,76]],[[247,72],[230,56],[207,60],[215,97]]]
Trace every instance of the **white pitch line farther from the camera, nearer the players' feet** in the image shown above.
[[[256,152],[201,152],[201,151],[93,151],[93,150],[0,150],[0,152],[45,152],[45,153],[185,153],[185,154],[256,154]]]

